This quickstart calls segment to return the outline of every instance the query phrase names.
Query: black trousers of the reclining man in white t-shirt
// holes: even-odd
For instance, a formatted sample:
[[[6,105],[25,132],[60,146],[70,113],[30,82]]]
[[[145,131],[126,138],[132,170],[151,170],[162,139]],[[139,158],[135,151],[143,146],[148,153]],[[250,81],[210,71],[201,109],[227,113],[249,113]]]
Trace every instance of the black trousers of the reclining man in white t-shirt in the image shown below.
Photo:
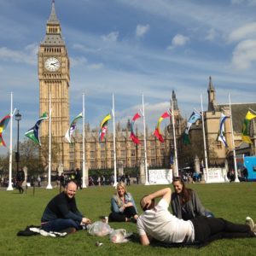
[[[247,224],[234,224],[224,218],[200,216],[191,219],[191,222],[195,229],[195,241],[199,242],[256,236]]]

